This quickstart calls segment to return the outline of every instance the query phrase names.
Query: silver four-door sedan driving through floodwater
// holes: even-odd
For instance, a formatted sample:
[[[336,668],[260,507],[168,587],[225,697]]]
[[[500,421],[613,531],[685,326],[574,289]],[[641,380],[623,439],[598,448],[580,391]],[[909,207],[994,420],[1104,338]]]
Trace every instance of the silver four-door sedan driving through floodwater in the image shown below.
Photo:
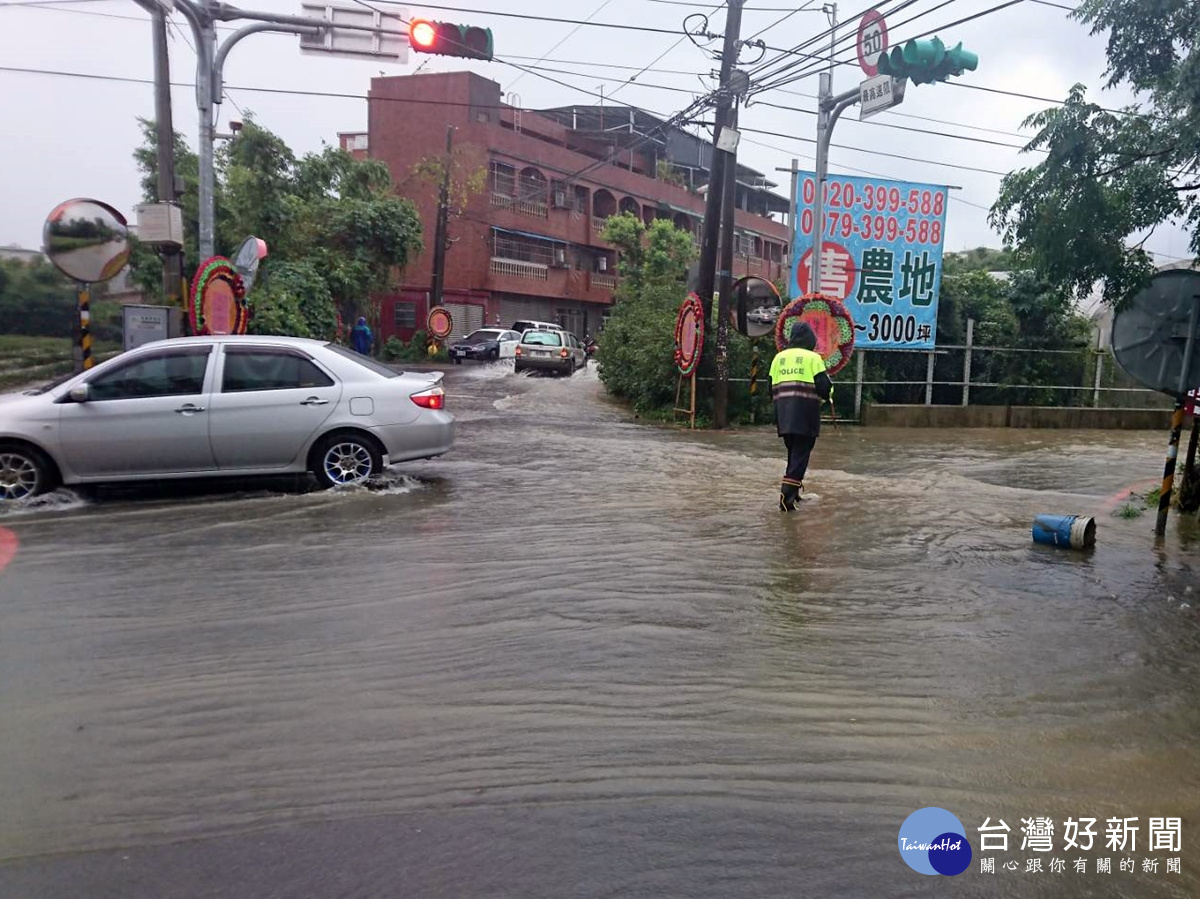
[[[312,472],[324,487],[454,444],[443,374],[298,337],[148,343],[0,396],[0,502],[58,484]]]

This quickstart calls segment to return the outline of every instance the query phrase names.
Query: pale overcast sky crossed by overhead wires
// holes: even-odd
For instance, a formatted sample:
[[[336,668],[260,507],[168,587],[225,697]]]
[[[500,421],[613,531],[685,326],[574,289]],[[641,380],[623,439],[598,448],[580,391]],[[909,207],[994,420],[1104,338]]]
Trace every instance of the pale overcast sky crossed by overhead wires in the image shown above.
[[[347,0],[349,1],[349,0]],[[257,0],[242,8],[280,13],[300,13],[301,0]],[[682,0],[578,0],[575,4],[550,0],[457,0],[448,5],[493,6],[506,12],[540,16],[588,18],[596,22],[644,24],[678,29],[689,12],[712,6],[684,4]],[[1081,82],[1093,97],[1105,106],[1121,106],[1129,95],[1100,92],[1104,71],[1104,41],[1067,18],[1064,10],[1026,0],[1016,6],[984,16],[953,28],[947,23],[995,6],[997,0],[955,0],[908,25],[893,26],[892,42],[928,29],[948,44],[962,41],[979,54],[979,68],[965,74],[964,83],[1000,88],[1038,97],[1063,97],[1072,84]],[[35,4],[35,5],[29,5]],[[44,5],[37,5],[44,4]],[[820,2],[814,2],[820,6]],[[900,23],[914,13],[931,10],[937,0],[917,0],[904,12],[889,17]],[[892,8],[895,2],[882,4]],[[852,34],[866,7],[844,4],[841,26]],[[424,64],[424,71],[451,71],[469,65],[496,79],[505,91],[514,91],[523,107],[548,107],[569,103],[594,103],[601,86],[616,97],[606,102],[624,102],[652,112],[670,114],[686,106],[683,91],[702,90],[700,76],[715,66],[712,56],[684,40],[665,34],[618,31],[584,26],[571,35],[574,25],[529,22],[490,16],[486,12],[439,12],[419,5],[413,13],[425,13],[457,22],[478,22],[492,28],[497,56],[517,65],[532,65],[547,56],[542,66],[570,71],[571,74],[545,73],[576,85],[578,90],[548,82],[534,73],[522,73],[512,65],[463,64],[462,60],[413,54],[407,64],[388,64],[323,58],[301,54],[292,35],[256,35],[240,43],[229,56],[226,71],[228,94],[220,107],[218,131],[227,130],[230,119],[241,118],[238,107],[252,110],[258,120],[281,134],[296,151],[317,150],[322,142],[335,143],[338,131],[365,130],[366,101],[355,97],[312,97],[259,89],[325,91],[364,96],[370,79],[380,73],[404,74]],[[762,40],[779,48],[794,47],[827,29],[821,12],[804,10],[776,23],[792,0],[749,0],[743,19],[743,36],[761,29]],[[173,17],[178,28],[172,38],[172,80],[190,85],[194,77],[196,55],[191,31],[180,14]],[[769,26],[769,28],[768,28]],[[724,12],[715,13],[709,30],[720,32]],[[228,29],[222,36],[228,36]],[[570,36],[569,36],[570,35]],[[566,38],[563,41],[563,38]],[[563,41],[560,46],[554,46]],[[716,49],[719,43],[713,43]],[[554,48],[554,49],[552,49]],[[595,64],[646,66],[660,54],[654,70],[634,84],[622,85],[631,72],[605,68]],[[744,60],[752,60],[756,52]],[[768,54],[768,59],[775,54]],[[847,42],[839,58],[853,61],[854,49]],[[553,61],[552,61],[553,60]],[[589,65],[592,64],[592,65]],[[0,0],[0,66],[49,72],[86,73],[116,78],[152,78],[151,35],[149,19],[133,0]],[[744,67],[751,67],[744,64]],[[834,89],[847,90],[862,78],[857,68],[839,67]],[[0,167],[0,245],[36,247],[41,242],[42,222],[59,202],[76,196],[91,196],[112,203],[130,215],[140,199],[138,174],[131,152],[139,140],[137,118],[154,116],[152,90],[149,84],[68,78],[61,74],[31,74],[0,71],[0,116],[5,122],[4,166]],[[712,84],[704,80],[703,84]],[[618,90],[619,88],[619,90]],[[676,90],[666,90],[673,88]],[[758,98],[788,110],[751,106],[743,110],[742,124],[751,128],[812,138],[816,119],[816,77],[806,78]],[[798,94],[806,96],[798,96]],[[176,130],[194,146],[197,113],[190,86],[173,91]],[[1020,122],[1046,103],[1002,96],[950,85],[908,88],[896,113],[883,113],[872,121],[890,122],[906,128],[952,132],[992,142],[1020,144]],[[924,118],[910,118],[924,116]],[[936,119],[937,122],[929,121]],[[948,124],[943,124],[948,122]],[[972,126],[972,127],[966,127]],[[978,131],[973,128],[988,128]],[[1000,133],[997,133],[1000,132]],[[952,192],[946,248],[961,250],[979,245],[998,246],[1000,238],[988,226],[986,208],[996,198],[1000,175],[949,168],[956,163],[1003,173],[1030,164],[1036,156],[1015,149],[983,143],[967,143],[936,134],[878,127],[858,121],[857,110],[846,113],[838,125],[834,143],[850,149],[834,149],[830,170],[858,174],[860,170],[911,181],[956,185]],[[902,158],[878,156],[868,151],[894,154]],[[776,167],[786,168],[793,156],[802,167],[811,164],[811,144],[787,137],[763,137],[746,133],[739,158],[768,175]],[[779,174],[780,192],[786,192],[787,175]],[[1187,236],[1177,228],[1160,228],[1147,248],[1168,258],[1187,254]]]

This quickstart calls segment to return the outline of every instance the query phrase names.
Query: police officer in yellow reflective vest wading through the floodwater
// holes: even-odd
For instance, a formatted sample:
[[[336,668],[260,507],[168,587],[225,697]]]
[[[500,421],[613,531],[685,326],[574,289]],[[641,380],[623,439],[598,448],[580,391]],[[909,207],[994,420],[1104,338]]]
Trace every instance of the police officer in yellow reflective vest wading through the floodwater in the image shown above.
[[[817,336],[804,322],[792,325],[788,346],[770,362],[770,394],[775,427],[787,446],[787,472],[779,489],[779,510],[796,511],[804,490],[804,472],[821,433],[821,403],[833,396],[824,360],[816,353]]]

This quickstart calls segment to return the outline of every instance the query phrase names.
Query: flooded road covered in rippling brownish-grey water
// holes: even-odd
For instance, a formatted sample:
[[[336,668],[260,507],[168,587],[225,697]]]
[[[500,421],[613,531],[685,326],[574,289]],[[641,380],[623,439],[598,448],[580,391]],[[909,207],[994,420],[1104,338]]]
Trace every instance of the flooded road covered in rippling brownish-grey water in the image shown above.
[[[772,431],[648,426],[592,372],[446,388],[454,453],[385,490],[0,515],[0,897],[1200,894],[1200,533],[1111,515],[1165,436],[827,428],[784,516]],[[952,883],[896,850],[930,805]]]

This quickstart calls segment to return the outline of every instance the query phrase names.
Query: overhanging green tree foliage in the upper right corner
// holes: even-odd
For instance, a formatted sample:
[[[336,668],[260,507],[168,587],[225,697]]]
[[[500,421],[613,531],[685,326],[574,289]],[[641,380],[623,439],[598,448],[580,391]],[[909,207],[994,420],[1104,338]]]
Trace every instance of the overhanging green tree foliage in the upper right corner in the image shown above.
[[[1027,149],[1046,156],[1004,178],[991,221],[1050,283],[1099,282],[1120,305],[1153,272],[1133,235],[1182,218],[1200,254],[1200,6],[1087,0],[1074,16],[1108,34],[1108,86],[1145,102],[1114,112],[1075,85],[1061,108],[1030,116]]]

